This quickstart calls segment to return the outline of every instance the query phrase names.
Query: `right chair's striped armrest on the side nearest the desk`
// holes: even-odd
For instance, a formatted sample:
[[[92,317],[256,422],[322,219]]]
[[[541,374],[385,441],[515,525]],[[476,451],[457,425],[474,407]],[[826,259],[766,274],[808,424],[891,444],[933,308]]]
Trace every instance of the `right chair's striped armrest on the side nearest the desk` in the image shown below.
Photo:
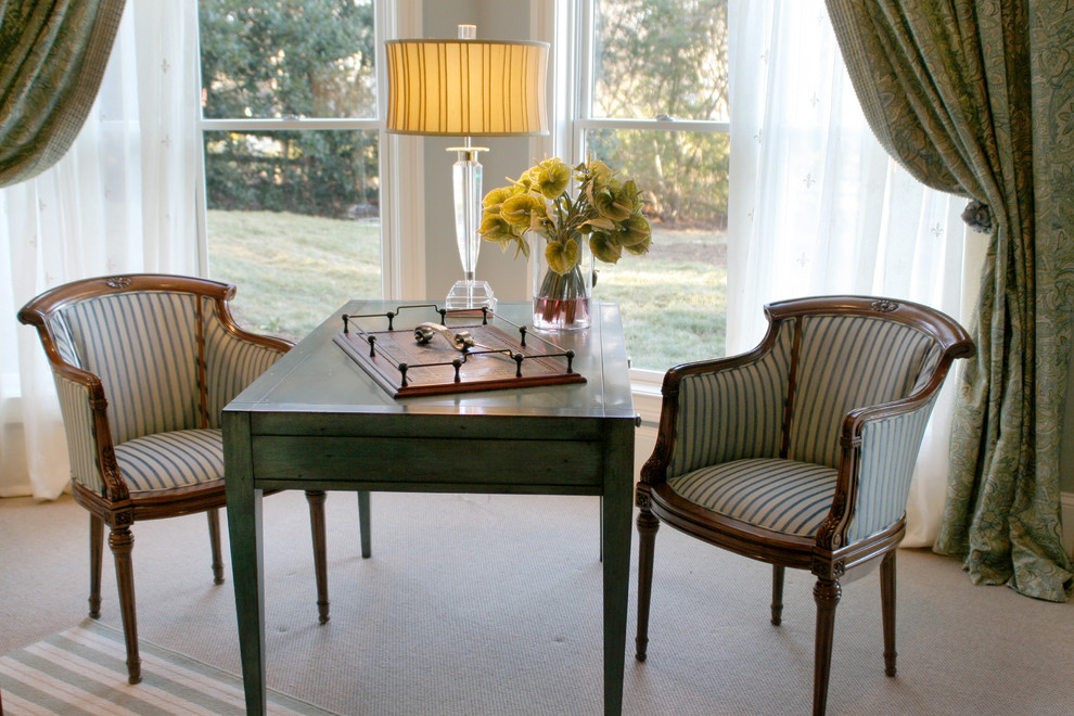
[[[662,388],[656,449],[642,468],[642,481],[654,485],[706,464],[777,457],[791,333],[777,327],[747,354],[669,370]]]

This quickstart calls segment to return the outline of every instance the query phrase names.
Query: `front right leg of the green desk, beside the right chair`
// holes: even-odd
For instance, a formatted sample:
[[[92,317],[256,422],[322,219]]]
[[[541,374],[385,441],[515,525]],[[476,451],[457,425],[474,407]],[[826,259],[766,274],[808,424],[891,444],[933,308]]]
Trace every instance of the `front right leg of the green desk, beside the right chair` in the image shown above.
[[[604,443],[601,542],[604,560],[604,714],[623,712],[630,517],[634,512],[634,422],[609,431]]]

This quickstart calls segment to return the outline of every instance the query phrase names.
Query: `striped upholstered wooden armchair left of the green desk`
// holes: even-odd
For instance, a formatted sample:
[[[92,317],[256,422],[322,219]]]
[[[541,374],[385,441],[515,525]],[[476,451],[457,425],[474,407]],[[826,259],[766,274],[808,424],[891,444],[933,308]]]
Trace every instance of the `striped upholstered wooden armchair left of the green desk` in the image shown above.
[[[90,512],[94,618],[101,609],[104,525],[111,530],[130,683],[141,680],[131,526],[207,512],[214,580],[223,581],[220,412],[291,348],[240,329],[227,303],[234,292],[233,285],[203,279],[117,276],[59,286],[18,312],[23,323],[37,328],[52,367],[72,493]],[[323,623],[324,494],[306,496]]]

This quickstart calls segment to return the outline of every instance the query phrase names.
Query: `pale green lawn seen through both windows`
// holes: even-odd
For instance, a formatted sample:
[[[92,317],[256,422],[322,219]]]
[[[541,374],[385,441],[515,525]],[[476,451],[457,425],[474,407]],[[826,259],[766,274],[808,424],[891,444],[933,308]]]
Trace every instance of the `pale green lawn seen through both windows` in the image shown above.
[[[282,212],[210,210],[209,271],[239,286],[233,309],[292,340],[355,297],[379,296],[380,227]],[[598,264],[594,297],[619,304],[635,368],[724,355],[724,235],[657,229],[653,251]]]

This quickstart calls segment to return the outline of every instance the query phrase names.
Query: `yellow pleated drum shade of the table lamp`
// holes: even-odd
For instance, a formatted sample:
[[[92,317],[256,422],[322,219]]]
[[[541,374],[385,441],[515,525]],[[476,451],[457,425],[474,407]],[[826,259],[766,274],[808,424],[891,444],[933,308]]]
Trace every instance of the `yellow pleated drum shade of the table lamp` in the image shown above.
[[[547,135],[546,42],[389,40],[387,130]]]

